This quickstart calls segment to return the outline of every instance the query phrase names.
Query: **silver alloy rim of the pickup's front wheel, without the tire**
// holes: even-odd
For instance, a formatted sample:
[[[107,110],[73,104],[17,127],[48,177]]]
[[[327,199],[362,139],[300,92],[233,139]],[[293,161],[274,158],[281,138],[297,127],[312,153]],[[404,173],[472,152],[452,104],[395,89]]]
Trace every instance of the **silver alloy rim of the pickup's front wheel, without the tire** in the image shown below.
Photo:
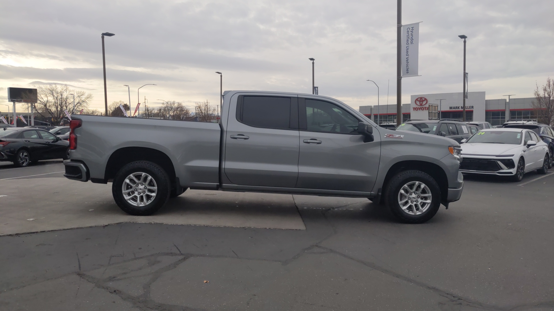
[[[398,192],[398,204],[409,215],[420,215],[429,209],[433,196],[422,182],[409,182]]]

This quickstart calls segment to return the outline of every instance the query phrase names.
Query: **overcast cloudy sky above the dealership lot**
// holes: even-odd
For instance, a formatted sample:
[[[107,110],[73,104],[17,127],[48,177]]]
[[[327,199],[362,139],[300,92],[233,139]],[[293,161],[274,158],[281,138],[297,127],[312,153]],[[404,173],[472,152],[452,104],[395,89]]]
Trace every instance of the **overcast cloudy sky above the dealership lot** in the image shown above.
[[[419,74],[402,79],[410,95],[461,92],[468,36],[469,91],[486,99],[532,97],[554,77],[552,0],[404,0],[403,24],[420,24]],[[107,100],[219,104],[223,90],[319,94],[353,108],[396,103],[394,0],[2,1],[0,111],[6,87],[70,85]],[[387,95],[388,93],[388,95]],[[19,109],[19,108],[18,108]],[[26,110],[26,108],[25,108]]]

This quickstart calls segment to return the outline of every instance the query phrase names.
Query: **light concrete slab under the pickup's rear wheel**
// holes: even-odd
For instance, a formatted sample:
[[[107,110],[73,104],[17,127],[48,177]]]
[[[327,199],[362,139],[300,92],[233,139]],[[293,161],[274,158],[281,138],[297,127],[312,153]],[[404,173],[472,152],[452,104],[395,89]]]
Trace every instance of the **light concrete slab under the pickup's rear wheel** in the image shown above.
[[[0,180],[0,235],[146,222],[304,230],[293,197],[188,190],[152,216],[131,216],[114,203],[111,184],[66,178]]]

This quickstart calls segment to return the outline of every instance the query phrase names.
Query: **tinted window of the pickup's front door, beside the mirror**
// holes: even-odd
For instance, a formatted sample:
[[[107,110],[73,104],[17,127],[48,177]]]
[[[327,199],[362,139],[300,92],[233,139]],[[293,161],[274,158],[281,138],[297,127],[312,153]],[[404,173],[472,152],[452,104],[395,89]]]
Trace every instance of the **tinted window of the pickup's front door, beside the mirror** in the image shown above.
[[[356,133],[358,119],[337,105],[306,100],[306,126],[310,132]]]

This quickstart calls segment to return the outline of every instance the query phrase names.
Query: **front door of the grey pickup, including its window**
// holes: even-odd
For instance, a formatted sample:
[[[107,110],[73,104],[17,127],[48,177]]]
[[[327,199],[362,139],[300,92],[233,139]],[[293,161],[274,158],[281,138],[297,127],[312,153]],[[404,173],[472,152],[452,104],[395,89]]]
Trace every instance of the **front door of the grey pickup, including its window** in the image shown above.
[[[336,103],[299,98],[300,158],[296,188],[370,192],[381,138],[365,143],[359,120]],[[381,129],[385,131],[385,129]]]

